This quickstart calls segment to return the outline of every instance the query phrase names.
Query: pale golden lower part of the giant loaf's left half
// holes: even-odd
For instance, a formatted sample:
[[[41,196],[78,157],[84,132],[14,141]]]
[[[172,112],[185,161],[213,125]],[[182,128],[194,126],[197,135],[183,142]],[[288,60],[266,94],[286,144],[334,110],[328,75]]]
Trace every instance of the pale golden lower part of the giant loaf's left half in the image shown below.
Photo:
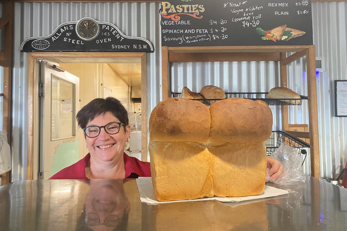
[[[151,142],[154,194],[158,201],[213,196],[210,154],[196,142]]]

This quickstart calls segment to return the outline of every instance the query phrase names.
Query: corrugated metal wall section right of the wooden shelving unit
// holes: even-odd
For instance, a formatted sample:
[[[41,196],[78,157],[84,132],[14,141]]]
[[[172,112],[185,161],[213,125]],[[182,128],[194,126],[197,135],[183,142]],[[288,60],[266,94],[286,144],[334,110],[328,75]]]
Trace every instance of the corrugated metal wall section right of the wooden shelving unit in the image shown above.
[[[316,56],[326,71],[317,74],[321,175],[335,177],[347,161],[347,117],[335,117],[334,80],[347,79],[347,2],[312,3]]]

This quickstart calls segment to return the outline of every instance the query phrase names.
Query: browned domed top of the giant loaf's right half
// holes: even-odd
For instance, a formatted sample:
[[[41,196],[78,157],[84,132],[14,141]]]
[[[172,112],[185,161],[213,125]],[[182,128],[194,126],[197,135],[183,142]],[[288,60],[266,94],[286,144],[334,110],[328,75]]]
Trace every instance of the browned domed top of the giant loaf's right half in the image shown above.
[[[229,98],[210,106],[209,143],[249,143],[269,139],[272,112],[261,100]]]

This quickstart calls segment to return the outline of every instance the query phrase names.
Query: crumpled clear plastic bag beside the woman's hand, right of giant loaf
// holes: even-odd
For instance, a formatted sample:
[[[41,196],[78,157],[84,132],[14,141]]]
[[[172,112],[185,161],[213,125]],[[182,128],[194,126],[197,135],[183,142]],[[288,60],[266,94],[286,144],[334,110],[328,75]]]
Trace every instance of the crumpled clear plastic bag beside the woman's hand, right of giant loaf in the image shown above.
[[[268,168],[266,170],[266,181],[279,185],[292,185],[306,181],[306,175],[302,174],[301,158],[297,149],[282,144],[273,152],[271,157],[281,162],[284,172],[277,180],[272,180]]]

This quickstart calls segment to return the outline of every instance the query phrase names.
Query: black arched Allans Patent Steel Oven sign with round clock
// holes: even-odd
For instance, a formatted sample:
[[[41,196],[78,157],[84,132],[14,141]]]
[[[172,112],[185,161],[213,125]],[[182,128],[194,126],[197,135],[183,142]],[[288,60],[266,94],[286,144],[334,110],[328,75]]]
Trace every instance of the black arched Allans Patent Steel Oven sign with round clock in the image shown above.
[[[26,39],[20,51],[154,52],[154,49],[145,38],[126,36],[111,23],[86,17],[63,23],[48,36]]]

